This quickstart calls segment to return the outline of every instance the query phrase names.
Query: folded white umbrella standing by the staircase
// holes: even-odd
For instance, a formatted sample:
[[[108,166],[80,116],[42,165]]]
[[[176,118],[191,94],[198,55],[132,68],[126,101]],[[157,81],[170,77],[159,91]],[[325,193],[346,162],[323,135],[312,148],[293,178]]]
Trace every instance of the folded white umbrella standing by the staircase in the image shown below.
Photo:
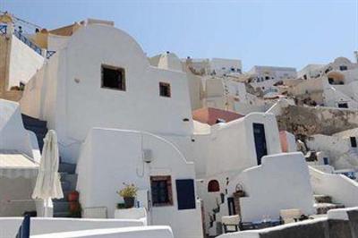
[[[61,187],[60,174],[58,174],[59,157],[55,131],[48,131],[44,142],[32,198],[46,201],[49,199],[62,199],[64,198],[64,192]]]

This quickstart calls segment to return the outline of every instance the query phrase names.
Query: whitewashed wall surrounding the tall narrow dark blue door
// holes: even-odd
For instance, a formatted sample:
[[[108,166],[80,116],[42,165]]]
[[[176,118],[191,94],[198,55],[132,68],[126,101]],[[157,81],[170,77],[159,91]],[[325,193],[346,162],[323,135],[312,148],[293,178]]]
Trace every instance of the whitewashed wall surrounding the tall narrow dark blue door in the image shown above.
[[[205,176],[211,176],[257,166],[252,123],[264,124],[268,155],[281,153],[275,115],[251,113],[233,122],[212,126],[210,134],[193,136],[197,172],[205,171]]]

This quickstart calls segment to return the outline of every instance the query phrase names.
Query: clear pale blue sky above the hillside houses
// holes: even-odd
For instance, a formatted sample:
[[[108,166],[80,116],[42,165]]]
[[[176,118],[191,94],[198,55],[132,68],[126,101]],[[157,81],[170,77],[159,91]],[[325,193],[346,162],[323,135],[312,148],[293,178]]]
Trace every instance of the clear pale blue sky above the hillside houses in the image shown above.
[[[358,50],[358,0],[0,0],[0,9],[48,29],[111,20],[148,55],[238,58],[244,70],[300,69]]]

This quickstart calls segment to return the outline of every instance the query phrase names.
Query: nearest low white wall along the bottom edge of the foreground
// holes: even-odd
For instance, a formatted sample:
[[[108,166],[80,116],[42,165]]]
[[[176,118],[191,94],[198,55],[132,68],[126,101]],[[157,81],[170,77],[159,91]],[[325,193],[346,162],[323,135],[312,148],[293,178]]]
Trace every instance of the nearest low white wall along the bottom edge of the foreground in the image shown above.
[[[40,234],[31,236],[33,238],[78,238],[78,237],[101,237],[101,238],[174,238],[173,233],[168,226],[146,226],[146,227],[127,227],[112,229],[97,229],[79,232]]]

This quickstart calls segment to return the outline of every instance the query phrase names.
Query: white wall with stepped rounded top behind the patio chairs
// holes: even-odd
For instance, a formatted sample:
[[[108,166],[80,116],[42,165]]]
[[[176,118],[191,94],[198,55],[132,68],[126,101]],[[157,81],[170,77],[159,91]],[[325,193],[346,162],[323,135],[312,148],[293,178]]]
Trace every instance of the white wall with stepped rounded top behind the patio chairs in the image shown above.
[[[278,219],[281,209],[299,208],[312,215],[313,191],[308,166],[301,152],[263,157],[262,165],[251,167],[229,183],[228,194],[242,184],[247,197],[240,199],[244,222]]]

